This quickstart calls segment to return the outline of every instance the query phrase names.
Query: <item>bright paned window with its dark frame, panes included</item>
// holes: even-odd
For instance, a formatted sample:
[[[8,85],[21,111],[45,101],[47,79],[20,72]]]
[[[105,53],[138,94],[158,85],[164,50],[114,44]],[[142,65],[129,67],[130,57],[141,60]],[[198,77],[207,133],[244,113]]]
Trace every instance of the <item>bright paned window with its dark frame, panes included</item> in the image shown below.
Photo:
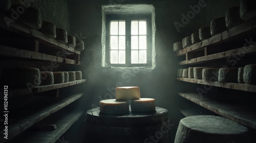
[[[150,16],[107,16],[106,63],[112,66],[152,64]]]

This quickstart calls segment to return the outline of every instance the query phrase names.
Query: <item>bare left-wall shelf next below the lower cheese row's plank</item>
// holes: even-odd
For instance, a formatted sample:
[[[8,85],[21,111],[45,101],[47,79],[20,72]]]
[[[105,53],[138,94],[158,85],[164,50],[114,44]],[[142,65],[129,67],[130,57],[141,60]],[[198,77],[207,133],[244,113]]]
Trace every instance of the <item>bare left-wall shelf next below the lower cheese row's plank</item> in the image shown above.
[[[40,103],[42,105],[36,105],[36,108],[31,108],[29,106],[23,110],[19,109],[18,111],[10,111],[10,115],[13,116],[9,117],[9,123],[12,124],[8,126],[8,140],[22,133],[54,112],[66,107],[82,96],[83,93],[77,93],[65,98],[58,98],[57,101],[55,98],[51,98],[47,103]],[[2,132],[3,131],[1,131],[0,135],[1,139],[4,138]]]

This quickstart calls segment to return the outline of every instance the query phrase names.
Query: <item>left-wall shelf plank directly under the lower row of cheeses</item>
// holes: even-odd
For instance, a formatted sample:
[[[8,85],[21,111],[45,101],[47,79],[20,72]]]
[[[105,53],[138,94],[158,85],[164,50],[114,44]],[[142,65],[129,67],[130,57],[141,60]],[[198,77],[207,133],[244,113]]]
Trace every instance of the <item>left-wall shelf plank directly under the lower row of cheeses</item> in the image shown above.
[[[67,82],[67,83],[34,86],[31,90],[29,88],[11,89],[9,91],[8,96],[10,96],[10,97],[24,96],[24,95],[31,94],[31,93],[39,93],[39,92],[49,91],[49,90],[68,87],[68,86],[72,86],[72,85],[76,85],[76,84],[80,84],[80,83],[84,83],[84,82],[86,82],[86,79],[70,81],[70,82]]]

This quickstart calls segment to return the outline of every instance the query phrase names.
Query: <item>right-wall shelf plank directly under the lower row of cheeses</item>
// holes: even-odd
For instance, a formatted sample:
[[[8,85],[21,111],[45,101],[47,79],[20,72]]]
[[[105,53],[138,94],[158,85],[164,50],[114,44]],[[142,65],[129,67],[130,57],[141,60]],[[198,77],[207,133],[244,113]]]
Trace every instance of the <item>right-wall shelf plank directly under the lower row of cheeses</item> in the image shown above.
[[[250,84],[218,82],[218,81],[207,82],[207,81],[204,81],[204,80],[189,79],[189,78],[177,78],[177,80],[178,81],[184,81],[184,82],[190,82],[190,83],[197,83],[197,84],[223,87],[223,88],[228,88],[228,89],[236,89],[236,90],[242,90],[242,91],[256,92],[256,85],[250,85]]]

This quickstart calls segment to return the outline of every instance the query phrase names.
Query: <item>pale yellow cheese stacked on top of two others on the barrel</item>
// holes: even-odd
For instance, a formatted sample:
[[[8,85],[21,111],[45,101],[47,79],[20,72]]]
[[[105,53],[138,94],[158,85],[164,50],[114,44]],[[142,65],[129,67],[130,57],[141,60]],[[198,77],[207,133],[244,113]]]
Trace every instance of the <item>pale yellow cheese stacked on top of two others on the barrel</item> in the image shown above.
[[[116,87],[116,100],[132,100],[140,98],[140,88],[138,86]]]

